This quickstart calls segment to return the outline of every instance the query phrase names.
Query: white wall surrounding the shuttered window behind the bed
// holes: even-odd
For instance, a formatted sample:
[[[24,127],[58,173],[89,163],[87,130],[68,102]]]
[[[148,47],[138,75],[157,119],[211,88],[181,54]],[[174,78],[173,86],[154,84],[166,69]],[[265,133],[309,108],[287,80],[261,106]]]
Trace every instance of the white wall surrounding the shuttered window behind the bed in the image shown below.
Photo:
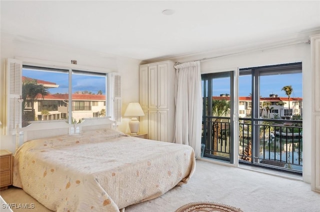
[[[4,121],[4,63],[5,58],[30,58],[50,65],[70,65],[70,60],[77,60],[77,64],[92,67],[92,70],[118,72],[122,77],[122,114],[126,105],[131,101],[139,101],[138,76],[140,60],[119,56],[103,56],[96,52],[83,49],[66,48],[49,44],[22,42],[11,37],[2,36],[0,49],[0,121]],[[126,119],[124,119],[125,121]],[[121,123],[118,129],[125,132],[127,123]],[[3,125],[0,126],[0,149],[7,149],[14,153],[15,137],[3,135]]]

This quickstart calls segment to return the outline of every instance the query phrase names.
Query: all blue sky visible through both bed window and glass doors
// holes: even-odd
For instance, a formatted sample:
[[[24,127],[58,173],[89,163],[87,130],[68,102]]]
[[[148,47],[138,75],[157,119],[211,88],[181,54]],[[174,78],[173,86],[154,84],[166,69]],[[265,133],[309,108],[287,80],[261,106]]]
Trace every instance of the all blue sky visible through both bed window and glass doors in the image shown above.
[[[51,88],[48,91],[54,93],[68,93],[68,74],[62,72],[34,71],[23,69],[22,75],[34,79],[41,79],[54,82],[58,88]],[[280,74],[260,77],[260,96],[268,97],[269,94],[277,94],[280,97],[287,97],[281,88],[291,85],[293,92],[291,97],[302,97],[302,73]],[[229,78],[218,78],[213,80],[213,95],[230,94]],[[105,78],[101,76],[72,75],[72,93],[75,91],[90,91],[96,94],[99,90],[105,95]],[[251,93],[251,76],[239,77],[239,96],[249,96]]]

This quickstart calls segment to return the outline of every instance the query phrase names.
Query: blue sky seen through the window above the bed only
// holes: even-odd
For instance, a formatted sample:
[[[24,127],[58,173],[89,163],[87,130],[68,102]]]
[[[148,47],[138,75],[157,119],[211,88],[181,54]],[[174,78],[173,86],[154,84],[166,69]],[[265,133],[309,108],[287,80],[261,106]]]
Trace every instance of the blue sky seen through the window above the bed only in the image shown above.
[[[68,93],[68,73],[23,69],[22,76],[45,80],[59,85],[58,88],[48,89],[51,94]],[[99,90],[105,95],[105,77],[72,74],[72,93],[75,91],[90,91],[96,94]]]

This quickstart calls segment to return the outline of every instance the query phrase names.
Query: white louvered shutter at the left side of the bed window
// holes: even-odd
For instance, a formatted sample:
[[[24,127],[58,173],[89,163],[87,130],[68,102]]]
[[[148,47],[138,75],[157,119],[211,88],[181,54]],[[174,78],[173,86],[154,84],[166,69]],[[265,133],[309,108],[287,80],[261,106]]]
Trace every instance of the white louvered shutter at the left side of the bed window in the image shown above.
[[[22,61],[8,58],[5,67],[5,135],[14,135],[21,126]]]

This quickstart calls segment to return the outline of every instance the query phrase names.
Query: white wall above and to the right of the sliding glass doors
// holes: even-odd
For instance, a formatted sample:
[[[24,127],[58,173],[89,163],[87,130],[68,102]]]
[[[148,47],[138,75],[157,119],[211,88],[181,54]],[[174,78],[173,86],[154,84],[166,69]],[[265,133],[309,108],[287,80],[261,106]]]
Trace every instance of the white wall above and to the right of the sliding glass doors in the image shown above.
[[[178,62],[199,60],[213,57],[210,54],[201,56],[166,58]],[[265,66],[292,62],[302,62],[302,88],[303,88],[303,181],[311,182],[311,58],[310,44],[299,43],[286,47],[268,50],[250,51],[230,56],[217,57],[201,62],[201,73],[237,70],[254,66]]]

